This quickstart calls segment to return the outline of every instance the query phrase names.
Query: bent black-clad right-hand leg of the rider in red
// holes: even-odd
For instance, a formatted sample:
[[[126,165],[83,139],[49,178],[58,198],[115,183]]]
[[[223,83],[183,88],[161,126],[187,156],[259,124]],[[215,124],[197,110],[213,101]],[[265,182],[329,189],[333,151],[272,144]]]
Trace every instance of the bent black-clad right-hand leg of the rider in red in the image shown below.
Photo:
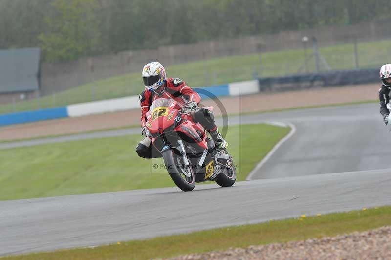
[[[213,140],[216,142],[218,148],[227,148],[228,143],[224,140],[221,134],[218,132],[215,124],[215,116],[207,108],[195,108],[194,119],[199,122],[205,130],[207,130]]]

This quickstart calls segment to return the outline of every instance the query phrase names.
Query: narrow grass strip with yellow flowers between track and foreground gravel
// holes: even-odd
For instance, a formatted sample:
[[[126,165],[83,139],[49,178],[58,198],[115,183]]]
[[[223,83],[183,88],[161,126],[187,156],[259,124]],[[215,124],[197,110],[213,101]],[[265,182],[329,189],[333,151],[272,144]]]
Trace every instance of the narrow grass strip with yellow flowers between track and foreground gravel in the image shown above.
[[[336,236],[390,225],[391,207],[380,207],[317,217],[299,217],[199,231],[147,240],[6,257],[4,260],[117,260],[168,258],[184,254],[226,250],[270,243]]]

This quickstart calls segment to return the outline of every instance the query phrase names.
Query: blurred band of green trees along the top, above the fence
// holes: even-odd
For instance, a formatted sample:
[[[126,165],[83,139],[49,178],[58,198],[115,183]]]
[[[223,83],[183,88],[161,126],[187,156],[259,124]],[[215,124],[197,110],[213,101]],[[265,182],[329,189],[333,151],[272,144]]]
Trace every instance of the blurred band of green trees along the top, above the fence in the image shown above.
[[[389,20],[391,0],[0,0],[0,48],[44,61]]]

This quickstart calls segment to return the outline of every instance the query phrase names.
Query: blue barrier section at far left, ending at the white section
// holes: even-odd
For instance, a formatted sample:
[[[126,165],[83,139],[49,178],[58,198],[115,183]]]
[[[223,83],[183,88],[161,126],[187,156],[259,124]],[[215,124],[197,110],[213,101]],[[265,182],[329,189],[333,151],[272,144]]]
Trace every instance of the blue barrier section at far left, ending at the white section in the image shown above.
[[[41,120],[68,117],[66,107],[47,108],[35,111],[18,112],[0,115],[0,126],[29,123]]]

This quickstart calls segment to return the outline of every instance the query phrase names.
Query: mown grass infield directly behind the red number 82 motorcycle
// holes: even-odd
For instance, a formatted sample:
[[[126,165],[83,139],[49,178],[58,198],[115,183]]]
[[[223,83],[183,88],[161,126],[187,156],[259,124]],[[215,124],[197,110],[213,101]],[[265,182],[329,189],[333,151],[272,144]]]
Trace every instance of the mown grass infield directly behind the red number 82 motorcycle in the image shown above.
[[[288,132],[265,124],[229,127],[228,151],[238,180]],[[164,168],[152,167],[162,164],[161,158],[137,156],[140,140],[137,134],[2,150],[0,200],[174,186]]]

